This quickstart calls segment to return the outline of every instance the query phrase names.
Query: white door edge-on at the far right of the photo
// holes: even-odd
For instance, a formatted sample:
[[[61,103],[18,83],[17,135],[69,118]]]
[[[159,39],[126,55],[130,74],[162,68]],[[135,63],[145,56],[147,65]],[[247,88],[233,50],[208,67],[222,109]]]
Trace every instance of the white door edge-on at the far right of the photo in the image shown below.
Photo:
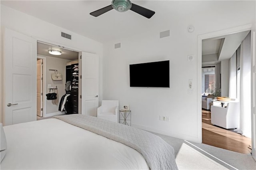
[[[252,58],[251,58],[251,101],[252,101],[252,157],[256,160],[256,37],[255,31],[251,33]]]

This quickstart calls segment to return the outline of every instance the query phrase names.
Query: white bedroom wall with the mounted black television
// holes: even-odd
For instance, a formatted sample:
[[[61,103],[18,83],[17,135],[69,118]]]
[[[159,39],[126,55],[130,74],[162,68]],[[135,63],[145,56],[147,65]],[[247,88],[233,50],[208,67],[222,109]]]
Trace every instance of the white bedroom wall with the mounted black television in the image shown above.
[[[193,4],[202,6],[202,11],[195,10],[189,15],[179,11],[180,15],[174,15],[172,21],[155,25],[155,32],[145,30],[133,37],[104,43],[103,99],[118,99],[120,107],[129,104],[134,127],[200,142],[198,35],[253,23],[254,3],[172,1],[172,8]],[[189,25],[194,26],[194,32],[187,31]],[[170,37],[160,39],[159,32],[169,29]],[[114,49],[119,42],[121,48]],[[188,55],[194,55],[194,60],[188,61]],[[170,88],[129,87],[129,64],[162,60],[170,60]],[[189,79],[193,79],[192,94],[188,94]],[[169,116],[170,122],[159,121],[159,115]]]

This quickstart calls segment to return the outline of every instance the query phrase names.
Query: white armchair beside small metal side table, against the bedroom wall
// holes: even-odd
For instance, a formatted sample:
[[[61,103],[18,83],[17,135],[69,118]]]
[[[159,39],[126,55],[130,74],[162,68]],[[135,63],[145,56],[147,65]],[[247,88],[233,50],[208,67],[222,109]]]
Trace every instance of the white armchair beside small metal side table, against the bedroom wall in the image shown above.
[[[119,122],[119,101],[103,100],[97,109],[97,117],[112,122]]]

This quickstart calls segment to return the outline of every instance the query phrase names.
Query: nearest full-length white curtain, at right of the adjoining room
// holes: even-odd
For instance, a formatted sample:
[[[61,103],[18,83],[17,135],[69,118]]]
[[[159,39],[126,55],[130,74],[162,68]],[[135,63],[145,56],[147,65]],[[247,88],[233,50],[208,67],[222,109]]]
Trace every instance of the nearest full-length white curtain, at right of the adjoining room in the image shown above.
[[[250,34],[241,43],[240,125],[237,132],[251,138],[251,50]]]

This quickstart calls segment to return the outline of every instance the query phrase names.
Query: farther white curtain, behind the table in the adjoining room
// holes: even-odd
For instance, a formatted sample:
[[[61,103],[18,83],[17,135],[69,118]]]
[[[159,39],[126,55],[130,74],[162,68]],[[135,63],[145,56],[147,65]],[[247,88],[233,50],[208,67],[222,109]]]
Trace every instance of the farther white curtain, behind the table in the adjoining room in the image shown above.
[[[236,52],[229,60],[229,91],[228,97],[237,98],[236,96]]]

